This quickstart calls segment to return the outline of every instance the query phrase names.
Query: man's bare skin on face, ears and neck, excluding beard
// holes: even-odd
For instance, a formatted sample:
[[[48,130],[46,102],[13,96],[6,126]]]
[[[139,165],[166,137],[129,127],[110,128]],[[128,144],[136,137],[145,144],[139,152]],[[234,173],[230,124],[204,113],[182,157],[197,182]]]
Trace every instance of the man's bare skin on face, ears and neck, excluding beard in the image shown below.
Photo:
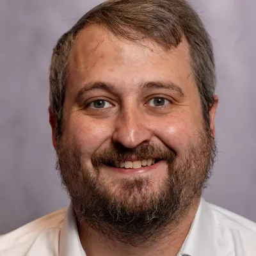
[[[84,163],[92,166],[90,156],[97,150],[111,147],[113,142],[127,148],[152,143],[175,150],[177,158],[184,156],[189,143],[198,131],[204,129],[204,120],[198,89],[195,84],[186,40],[176,49],[164,50],[150,40],[140,44],[118,39],[108,30],[89,26],[81,32],[70,53],[70,70],[63,111],[63,137],[80,148]],[[114,90],[88,90],[80,97],[77,93],[90,83],[112,84]],[[175,84],[184,93],[166,88],[141,88],[147,82]],[[154,97],[165,100],[164,107],[154,106]],[[95,109],[93,100],[106,100],[103,109]],[[209,113],[212,136],[215,134],[214,116],[218,97]],[[52,143],[57,147],[56,119],[50,112]],[[150,172],[143,172],[157,191],[166,179],[166,163]],[[91,173],[96,175],[95,173]],[[125,174],[105,168],[100,178],[110,193],[125,198],[115,181],[118,177],[132,179],[138,173]],[[109,244],[99,234],[78,224],[81,244],[86,255],[177,255],[195,217],[200,198],[195,198],[188,214],[177,228],[175,235],[166,237],[154,246],[132,247],[126,244]]]

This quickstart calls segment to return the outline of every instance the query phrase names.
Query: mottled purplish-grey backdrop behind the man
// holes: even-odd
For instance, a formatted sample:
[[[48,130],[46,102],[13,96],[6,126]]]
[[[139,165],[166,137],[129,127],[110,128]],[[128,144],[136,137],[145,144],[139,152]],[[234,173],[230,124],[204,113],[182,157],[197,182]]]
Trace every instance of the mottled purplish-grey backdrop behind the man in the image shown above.
[[[0,1],[0,234],[68,205],[54,169],[49,61],[58,38],[100,2]],[[220,96],[205,198],[256,221],[256,2],[192,3],[214,40]]]

